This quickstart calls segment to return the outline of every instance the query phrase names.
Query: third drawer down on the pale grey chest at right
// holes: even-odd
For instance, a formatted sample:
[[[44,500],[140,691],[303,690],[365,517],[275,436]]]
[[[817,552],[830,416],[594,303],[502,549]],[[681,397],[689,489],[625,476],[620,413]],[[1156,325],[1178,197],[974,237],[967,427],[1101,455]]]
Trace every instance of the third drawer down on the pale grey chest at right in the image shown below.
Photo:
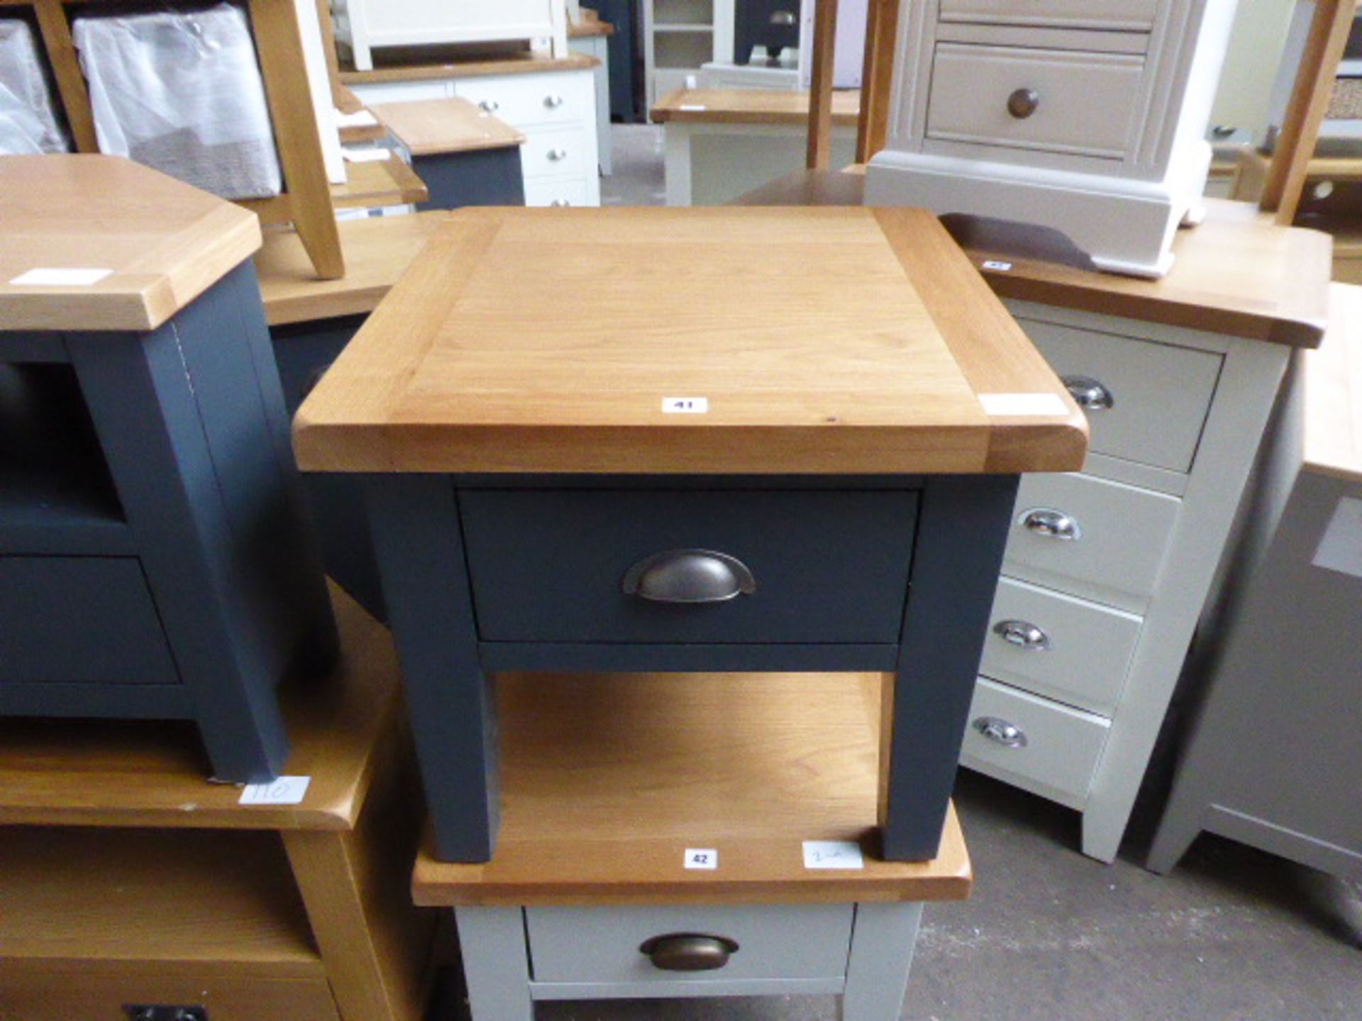
[[[1140,618],[1005,577],[979,670],[1091,712],[1115,708]]]

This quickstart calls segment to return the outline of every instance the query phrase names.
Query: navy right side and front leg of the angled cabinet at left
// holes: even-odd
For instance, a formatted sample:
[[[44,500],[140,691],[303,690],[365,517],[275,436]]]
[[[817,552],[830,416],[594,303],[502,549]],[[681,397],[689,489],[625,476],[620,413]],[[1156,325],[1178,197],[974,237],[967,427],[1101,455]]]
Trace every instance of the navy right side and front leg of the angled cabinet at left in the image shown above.
[[[222,780],[259,781],[276,776],[289,751],[274,686],[298,617],[311,615],[321,634],[334,625],[330,607],[317,606],[320,573],[298,584],[290,572],[290,585],[244,566],[257,554],[271,566],[281,553],[301,558],[308,538],[289,517],[237,323],[221,314],[237,298],[219,289],[191,306],[215,328],[177,319],[147,335],[72,335],[67,346],[212,769]],[[236,357],[214,361],[221,378],[210,385],[192,376],[188,349],[214,344]],[[206,422],[202,402],[215,387],[255,407],[234,423]],[[255,599],[266,584],[279,585],[278,600]]]

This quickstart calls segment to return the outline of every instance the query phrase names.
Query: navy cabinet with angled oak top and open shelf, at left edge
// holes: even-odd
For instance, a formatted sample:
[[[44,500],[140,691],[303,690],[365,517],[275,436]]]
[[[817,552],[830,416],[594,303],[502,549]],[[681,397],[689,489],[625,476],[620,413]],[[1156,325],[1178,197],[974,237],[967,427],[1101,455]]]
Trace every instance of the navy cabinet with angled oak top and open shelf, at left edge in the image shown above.
[[[275,683],[335,625],[259,225],[127,161],[3,162],[0,713],[189,719],[218,779],[272,779]]]

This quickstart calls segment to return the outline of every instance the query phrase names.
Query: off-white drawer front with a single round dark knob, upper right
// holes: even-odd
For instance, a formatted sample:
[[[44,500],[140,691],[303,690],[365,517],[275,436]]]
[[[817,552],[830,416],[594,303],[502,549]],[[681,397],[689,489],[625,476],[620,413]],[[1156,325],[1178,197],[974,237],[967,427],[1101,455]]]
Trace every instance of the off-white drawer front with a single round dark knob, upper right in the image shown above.
[[[1143,75],[1143,57],[943,42],[926,133],[1120,159],[1133,136]],[[1015,117],[1009,98],[1024,90],[1035,93],[1035,112]]]

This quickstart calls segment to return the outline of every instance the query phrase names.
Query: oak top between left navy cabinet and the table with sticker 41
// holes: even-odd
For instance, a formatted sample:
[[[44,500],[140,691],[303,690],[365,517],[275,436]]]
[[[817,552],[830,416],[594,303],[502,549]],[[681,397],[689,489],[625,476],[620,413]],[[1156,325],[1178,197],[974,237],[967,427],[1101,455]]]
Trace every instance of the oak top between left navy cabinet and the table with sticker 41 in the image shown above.
[[[346,275],[339,280],[316,278],[297,233],[267,230],[256,253],[256,275],[270,325],[373,312],[448,218],[444,210],[426,210],[342,221],[336,226]]]

